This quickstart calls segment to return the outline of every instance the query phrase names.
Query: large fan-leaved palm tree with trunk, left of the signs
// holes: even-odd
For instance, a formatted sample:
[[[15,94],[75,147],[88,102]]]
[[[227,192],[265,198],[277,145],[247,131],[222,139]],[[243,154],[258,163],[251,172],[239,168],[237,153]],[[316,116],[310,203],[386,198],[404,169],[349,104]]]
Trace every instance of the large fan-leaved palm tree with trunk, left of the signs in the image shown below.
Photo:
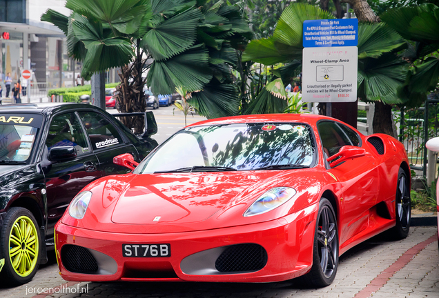
[[[191,104],[207,117],[234,114],[239,99],[231,67],[236,49],[252,34],[239,8],[218,1],[204,9],[205,2],[68,0],[69,17],[49,9],[41,20],[66,34],[70,56],[84,61],[85,79],[121,67],[121,112],[146,109],[146,83],[155,94],[184,86],[193,92]],[[142,79],[145,70],[148,76]]]

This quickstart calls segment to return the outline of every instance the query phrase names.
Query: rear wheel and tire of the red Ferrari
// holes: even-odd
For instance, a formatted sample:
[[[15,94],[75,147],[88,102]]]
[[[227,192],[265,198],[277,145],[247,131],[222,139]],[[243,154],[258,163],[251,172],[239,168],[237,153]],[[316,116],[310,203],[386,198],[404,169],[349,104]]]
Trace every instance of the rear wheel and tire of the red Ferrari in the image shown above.
[[[411,199],[409,180],[402,168],[400,168],[398,172],[395,204],[396,225],[391,229],[391,234],[396,237],[396,239],[404,239],[409,235],[410,230]]]

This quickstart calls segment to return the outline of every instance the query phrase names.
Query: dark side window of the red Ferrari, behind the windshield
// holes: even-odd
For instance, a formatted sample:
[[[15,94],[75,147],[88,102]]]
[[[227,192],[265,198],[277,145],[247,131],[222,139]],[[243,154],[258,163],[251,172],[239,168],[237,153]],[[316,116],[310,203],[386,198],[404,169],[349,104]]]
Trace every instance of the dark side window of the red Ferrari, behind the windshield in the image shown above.
[[[317,125],[323,150],[328,157],[335,155],[345,145],[352,145],[340,127],[331,121],[322,121]]]

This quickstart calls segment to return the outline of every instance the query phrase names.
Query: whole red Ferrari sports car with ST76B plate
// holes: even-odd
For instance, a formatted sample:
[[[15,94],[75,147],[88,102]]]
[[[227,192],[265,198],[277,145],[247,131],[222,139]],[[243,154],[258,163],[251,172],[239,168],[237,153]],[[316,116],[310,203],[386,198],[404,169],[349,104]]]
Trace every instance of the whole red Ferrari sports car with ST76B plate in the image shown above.
[[[206,120],[115,163],[133,172],[90,183],[55,227],[64,279],[327,286],[349,248],[409,232],[404,146],[329,117]]]

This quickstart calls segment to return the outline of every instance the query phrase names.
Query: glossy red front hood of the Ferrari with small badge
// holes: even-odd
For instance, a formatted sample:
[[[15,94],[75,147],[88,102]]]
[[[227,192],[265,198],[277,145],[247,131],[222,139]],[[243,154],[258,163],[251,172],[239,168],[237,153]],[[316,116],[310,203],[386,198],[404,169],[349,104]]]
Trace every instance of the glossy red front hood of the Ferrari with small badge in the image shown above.
[[[111,220],[115,224],[204,221],[260,179],[262,177],[254,175],[205,172],[197,175],[136,175],[130,186],[121,192]]]

